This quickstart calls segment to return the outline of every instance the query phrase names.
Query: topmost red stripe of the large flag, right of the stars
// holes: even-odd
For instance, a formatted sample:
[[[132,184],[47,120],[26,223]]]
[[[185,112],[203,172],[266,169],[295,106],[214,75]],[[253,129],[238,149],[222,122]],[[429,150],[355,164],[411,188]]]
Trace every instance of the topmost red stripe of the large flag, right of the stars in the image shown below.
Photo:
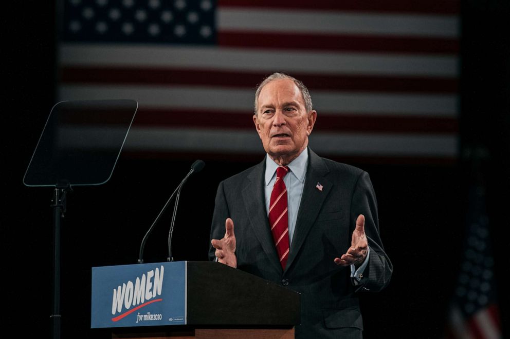
[[[460,12],[459,0],[218,0],[218,7],[259,7],[281,9],[339,10],[359,12],[403,12],[457,14]]]

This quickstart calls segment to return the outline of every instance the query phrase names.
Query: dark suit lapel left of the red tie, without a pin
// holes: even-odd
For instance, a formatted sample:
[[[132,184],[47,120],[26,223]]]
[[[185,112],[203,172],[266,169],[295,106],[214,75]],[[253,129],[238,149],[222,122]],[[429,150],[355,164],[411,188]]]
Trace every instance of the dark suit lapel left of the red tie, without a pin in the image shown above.
[[[269,221],[266,214],[266,203],[264,193],[264,172],[266,160],[260,163],[247,176],[247,185],[243,189],[243,201],[246,207],[246,215],[249,218],[251,227],[257,236],[264,252],[269,257],[269,261],[280,271],[282,267],[278,261],[276,247],[272,240],[269,229]],[[262,207],[262,208],[261,208]]]

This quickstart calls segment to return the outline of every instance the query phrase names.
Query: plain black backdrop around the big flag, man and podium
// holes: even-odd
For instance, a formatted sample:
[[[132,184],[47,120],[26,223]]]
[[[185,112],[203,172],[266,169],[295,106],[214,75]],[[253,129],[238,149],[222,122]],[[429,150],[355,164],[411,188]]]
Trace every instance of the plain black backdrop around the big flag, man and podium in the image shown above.
[[[43,4],[44,3],[44,4]],[[382,241],[393,265],[390,286],[362,295],[367,338],[436,338],[443,334],[464,232],[470,150],[485,149],[479,175],[487,184],[503,317],[508,316],[508,188],[510,52],[508,5],[462,3],[461,146],[456,164],[384,164],[336,158],[368,171],[378,204]],[[31,154],[55,103],[54,4],[33,2],[5,12],[3,28],[2,274],[3,323],[49,336],[52,280],[51,188],[22,183]],[[319,117],[320,119],[320,112]],[[136,124],[136,118],[135,122]],[[313,137],[313,135],[312,135]],[[173,235],[174,259],[207,260],[214,195],[224,178],[258,163],[203,154],[135,158],[122,153],[105,185],[75,187],[62,225],[62,337],[100,337],[89,329],[90,268],[134,264],[141,239],[196,158],[206,167],[186,184]],[[167,258],[172,206],[145,248],[145,262]],[[504,322],[503,322],[504,325]]]

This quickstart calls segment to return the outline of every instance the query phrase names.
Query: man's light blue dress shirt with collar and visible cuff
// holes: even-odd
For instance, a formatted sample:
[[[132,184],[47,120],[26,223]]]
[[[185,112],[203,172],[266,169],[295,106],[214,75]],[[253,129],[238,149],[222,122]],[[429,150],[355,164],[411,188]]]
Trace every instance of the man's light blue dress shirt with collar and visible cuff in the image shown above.
[[[306,167],[308,166],[308,149],[305,148],[297,158],[287,165],[289,172],[283,177],[283,182],[287,188],[287,202],[288,202],[288,236],[289,245],[292,244],[294,230],[296,229],[296,220],[298,218],[299,205],[301,203],[301,196],[303,195],[304,178],[306,176]],[[276,182],[276,169],[279,167],[277,163],[266,154],[266,172],[265,179],[265,198],[266,198],[266,213],[269,215],[269,203],[271,200],[272,187]],[[338,253],[342,255],[343,253]],[[354,265],[351,265],[351,277],[357,281],[361,280],[363,271],[367,267],[368,259],[370,256],[370,247],[368,248],[367,257],[363,264],[356,270]],[[333,260],[334,258],[331,258]]]

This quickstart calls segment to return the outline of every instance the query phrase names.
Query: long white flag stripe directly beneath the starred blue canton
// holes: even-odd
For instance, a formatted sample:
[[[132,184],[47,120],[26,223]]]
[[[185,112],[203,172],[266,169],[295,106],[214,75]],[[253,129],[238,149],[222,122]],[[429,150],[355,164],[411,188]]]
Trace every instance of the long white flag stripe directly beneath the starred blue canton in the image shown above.
[[[161,45],[64,44],[64,66],[183,67],[309,74],[457,76],[456,55],[263,51]]]

